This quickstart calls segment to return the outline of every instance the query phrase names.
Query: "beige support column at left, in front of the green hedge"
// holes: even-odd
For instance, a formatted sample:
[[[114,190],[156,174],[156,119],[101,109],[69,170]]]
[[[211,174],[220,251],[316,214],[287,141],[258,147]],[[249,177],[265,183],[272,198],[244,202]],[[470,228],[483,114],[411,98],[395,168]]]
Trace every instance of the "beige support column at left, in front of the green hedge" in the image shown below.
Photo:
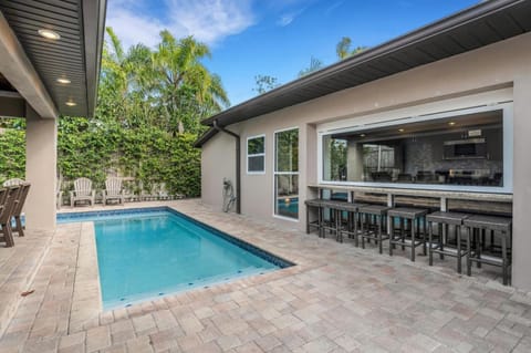
[[[24,206],[28,229],[55,229],[56,146],[56,120],[41,118],[28,105],[25,180],[31,183]]]

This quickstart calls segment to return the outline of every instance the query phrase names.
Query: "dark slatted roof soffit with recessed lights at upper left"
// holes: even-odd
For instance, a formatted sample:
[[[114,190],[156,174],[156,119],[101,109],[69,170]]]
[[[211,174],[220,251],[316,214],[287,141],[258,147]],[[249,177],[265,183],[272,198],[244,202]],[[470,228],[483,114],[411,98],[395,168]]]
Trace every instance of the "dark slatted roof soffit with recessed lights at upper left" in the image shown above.
[[[106,0],[0,0],[0,11],[61,114],[94,113],[105,9]],[[40,29],[61,39],[43,41]],[[62,76],[71,83],[58,84]],[[76,105],[65,105],[70,100]]]

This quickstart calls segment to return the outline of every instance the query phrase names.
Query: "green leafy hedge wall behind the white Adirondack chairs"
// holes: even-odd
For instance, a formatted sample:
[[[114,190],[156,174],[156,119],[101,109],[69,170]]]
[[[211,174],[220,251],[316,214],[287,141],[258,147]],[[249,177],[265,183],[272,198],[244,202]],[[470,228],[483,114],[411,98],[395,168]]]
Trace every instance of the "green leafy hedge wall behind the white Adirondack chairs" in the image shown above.
[[[10,126],[11,127],[11,126]],[[196,134],[173,136],[160,128],[123,128],[113,122],[83,117],[60,117],[58,168],[63,180],[92,179],[103,188],[108,174],[136,179],[145,190],[164,183],[167,190],[188,197],[200,195],[200,150],[194,148]],[[7,128],[0,134],[0,181],[24,177],[25,133]]]

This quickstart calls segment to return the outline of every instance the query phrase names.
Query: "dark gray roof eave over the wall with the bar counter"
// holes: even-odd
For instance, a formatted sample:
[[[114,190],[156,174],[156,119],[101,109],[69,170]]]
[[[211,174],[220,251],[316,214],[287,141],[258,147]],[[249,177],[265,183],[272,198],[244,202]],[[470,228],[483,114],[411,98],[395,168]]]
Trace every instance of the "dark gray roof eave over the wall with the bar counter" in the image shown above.
[[[531,0],[491,0],[400,35],[202,121],[239,123],[531,31]],[[200,147],[216,132],[207,132]]]

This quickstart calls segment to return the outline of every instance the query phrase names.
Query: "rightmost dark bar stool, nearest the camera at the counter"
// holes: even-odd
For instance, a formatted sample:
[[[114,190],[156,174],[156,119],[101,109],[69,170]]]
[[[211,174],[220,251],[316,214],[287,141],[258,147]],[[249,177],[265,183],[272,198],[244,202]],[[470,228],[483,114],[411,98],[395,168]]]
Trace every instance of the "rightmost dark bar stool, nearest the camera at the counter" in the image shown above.
[[[511,266],[511,258],[508,253],[508,248],[512,242],[512,218],[498,216],[470,216],[464,220],[467,227],[467,274],[471,276],[472,262],[478,267],[481,263],[501,267],[503,285],[509,283],[509,267]],[[494,232],[494,237],[501,238],[501,258],[482,258],[481,257],[481,237],[479,230],[490,230]],[[476,249],[472,256],[471,238],[476,241]]]

